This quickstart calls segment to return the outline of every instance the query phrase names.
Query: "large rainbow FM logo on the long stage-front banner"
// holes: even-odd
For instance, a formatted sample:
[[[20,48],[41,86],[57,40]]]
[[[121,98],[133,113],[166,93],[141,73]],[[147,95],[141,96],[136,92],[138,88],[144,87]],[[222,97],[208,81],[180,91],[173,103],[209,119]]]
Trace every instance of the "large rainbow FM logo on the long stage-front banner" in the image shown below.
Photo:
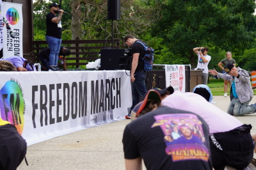
[[[0,89],[0,112],[3,120],[9,121],[22,134],[24,128],[25,102],[19,82],[11,79]]]

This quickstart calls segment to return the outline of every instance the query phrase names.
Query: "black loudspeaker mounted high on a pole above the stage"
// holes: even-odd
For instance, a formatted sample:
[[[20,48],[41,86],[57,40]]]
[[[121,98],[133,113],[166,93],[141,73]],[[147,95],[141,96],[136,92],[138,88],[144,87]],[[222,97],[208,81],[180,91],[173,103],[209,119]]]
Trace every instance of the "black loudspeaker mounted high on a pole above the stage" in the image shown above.
[[[108,0],[108,20],[120,20],[120,0]]]

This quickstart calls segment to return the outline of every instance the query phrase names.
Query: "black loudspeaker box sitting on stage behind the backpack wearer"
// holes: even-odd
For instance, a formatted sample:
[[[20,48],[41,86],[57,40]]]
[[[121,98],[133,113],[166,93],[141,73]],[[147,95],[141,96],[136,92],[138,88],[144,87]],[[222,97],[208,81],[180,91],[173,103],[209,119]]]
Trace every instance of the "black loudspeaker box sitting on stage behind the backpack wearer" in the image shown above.
[[[119,60],[125,55],[125,49],[101,49],[100,70],[120,70]]]

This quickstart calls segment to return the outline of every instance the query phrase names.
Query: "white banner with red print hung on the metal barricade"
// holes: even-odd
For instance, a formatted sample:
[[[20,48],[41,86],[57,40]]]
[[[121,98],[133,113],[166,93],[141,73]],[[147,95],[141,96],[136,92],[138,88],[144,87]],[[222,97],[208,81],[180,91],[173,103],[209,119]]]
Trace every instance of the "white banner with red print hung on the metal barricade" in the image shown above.
[[[166,87],[172,86],[174,90],[185,92],[185,66],[184,65],[164,65]]]

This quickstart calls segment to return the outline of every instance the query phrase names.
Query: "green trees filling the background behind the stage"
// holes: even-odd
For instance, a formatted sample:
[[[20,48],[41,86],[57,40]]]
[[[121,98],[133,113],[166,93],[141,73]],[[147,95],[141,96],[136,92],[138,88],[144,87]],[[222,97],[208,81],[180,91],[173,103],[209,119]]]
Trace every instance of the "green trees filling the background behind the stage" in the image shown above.
[[[49,4],[45,0],[33,4],[34,40],[45,40]],[[63,40],[72,40],[76,23],[83,40],[111,39],[108,1],[62,0],[61,8],[69,13],[61,19]],[[193,48],[209,47],[210,69],[221,72],[218,63],[231,51],[237,66],[256,70],[254,9],[254,0],[121,0],[121,19],[113,20],[113,38],[122,40],[131,34],[143,40],[155,49],[156,64],[195,68]],[[74,20],[75,15],[79,20]]]

